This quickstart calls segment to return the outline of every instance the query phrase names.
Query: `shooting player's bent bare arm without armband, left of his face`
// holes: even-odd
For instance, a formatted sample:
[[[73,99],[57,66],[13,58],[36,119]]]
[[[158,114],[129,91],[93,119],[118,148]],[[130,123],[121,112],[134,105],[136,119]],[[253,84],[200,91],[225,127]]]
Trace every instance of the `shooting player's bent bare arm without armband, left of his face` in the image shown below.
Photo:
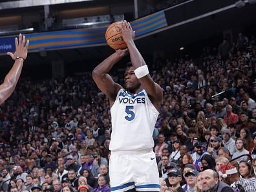
[[[122,86],[115,83],[111,76],[107,73],[112,69],[114,64],[120,61],[120,59],[127,54],[127,52],[127,49],[116,50],[114,54],[102,61],[100,65],[95,67],[95,69],[92,71],[92,78],[97,84],[98,88],[105,93],[111,101],[116,99],[116,94],[120,89],[122,89]]]

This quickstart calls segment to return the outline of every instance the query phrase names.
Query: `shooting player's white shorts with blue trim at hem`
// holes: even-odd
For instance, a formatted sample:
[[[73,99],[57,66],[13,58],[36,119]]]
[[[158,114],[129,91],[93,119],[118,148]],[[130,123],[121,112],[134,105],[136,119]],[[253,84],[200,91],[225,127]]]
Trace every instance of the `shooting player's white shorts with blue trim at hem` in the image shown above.
[[[160,191],[159,173],[153,151],[111,152],[111,191]]]

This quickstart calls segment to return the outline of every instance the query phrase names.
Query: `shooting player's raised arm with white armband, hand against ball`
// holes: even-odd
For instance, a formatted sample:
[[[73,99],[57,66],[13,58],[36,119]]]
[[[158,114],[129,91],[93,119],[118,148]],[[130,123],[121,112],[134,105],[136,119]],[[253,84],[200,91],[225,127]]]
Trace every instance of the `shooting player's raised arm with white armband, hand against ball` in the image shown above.
[[[155,83],[151,78],[144,58],[142,58],[142,55],[136,48],[136,45],[134,43],[133,28],[131,27],[130,23],[123,21],[121,30],[123,41],[125,41],[125,43],[127,44],[130,53],[131,62],[133,63],[136,77],[140,80],[140,83],[142,83],[142,86],[144,87],[147,94],[149,94],[149,96],[153,98],[153,101],[161,102],[163,97],[162,89],[160,85]]]

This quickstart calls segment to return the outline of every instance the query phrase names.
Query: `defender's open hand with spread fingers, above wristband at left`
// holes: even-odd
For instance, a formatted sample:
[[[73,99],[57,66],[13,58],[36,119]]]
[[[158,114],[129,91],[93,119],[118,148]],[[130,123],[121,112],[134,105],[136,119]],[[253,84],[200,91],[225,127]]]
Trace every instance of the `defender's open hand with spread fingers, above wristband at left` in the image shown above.
[[[10,56],[12,59],[16,59],[17,57],[21,57],[23,59],[27,58],[28,55],[28,44],[29,44],[29,40],[27,40],[27,43],[25,45],[25,41],[26,38],[25,36],[19,34],[19,41],[17,39],[17,37],[15,38],[15,47],[16,50],[14,52],[14,54],[12,52],[8,52],[8,56]]]

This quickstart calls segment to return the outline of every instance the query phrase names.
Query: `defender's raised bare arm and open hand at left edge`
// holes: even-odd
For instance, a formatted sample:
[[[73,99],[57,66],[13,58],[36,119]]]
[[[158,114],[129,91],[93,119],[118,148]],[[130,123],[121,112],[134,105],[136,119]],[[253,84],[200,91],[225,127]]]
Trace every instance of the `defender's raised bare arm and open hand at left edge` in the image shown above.
[[[0,85],[0,104],[2,104],[12,94],[12,92],[14,92],[19,76],[21,75],[23,63],[27,58],[28,43],[29,41],[27,40],[25,45],[25,36],[19,34],[19,41],[17,38],[15,39],[16,50],[14,54],[11,52],[7,53],[15,60],[15,62],[10,72],[5,76],[5,81]]]

